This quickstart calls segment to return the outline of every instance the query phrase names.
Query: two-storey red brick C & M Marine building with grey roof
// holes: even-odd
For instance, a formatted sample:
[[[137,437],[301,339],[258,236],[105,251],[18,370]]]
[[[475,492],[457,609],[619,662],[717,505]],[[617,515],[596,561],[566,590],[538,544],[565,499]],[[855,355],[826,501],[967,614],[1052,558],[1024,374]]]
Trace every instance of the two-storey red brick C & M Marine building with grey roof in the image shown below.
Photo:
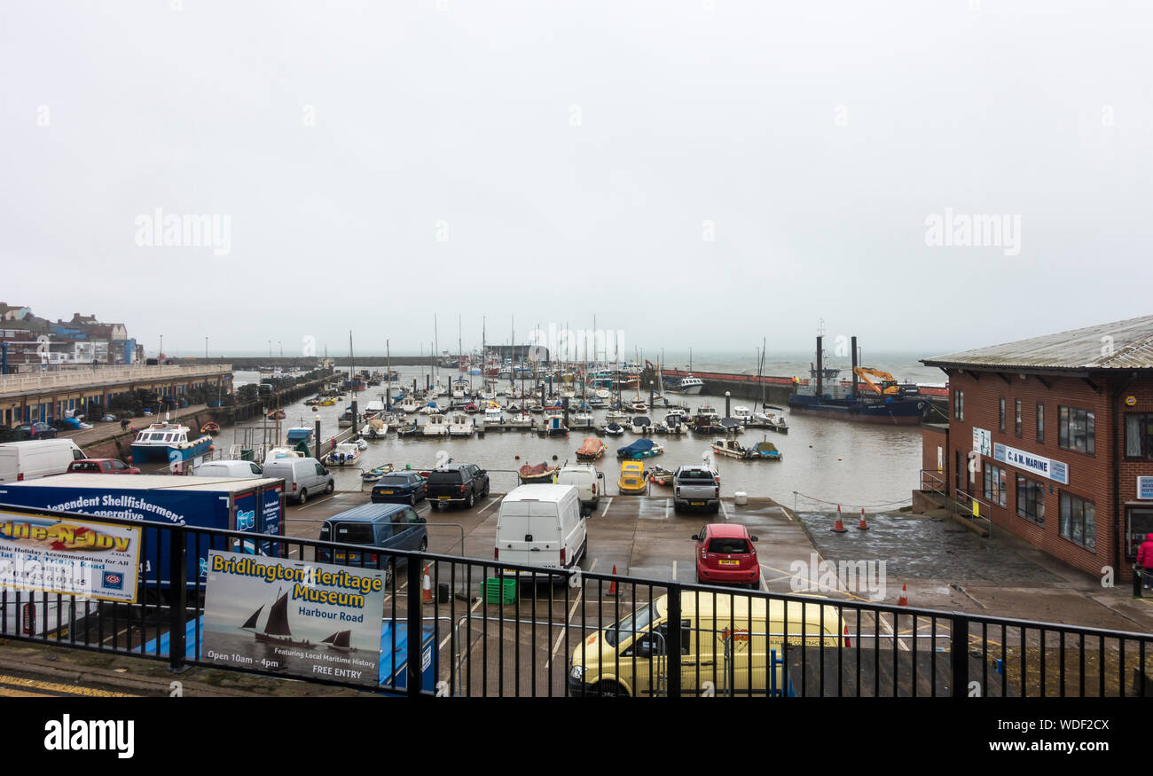
[[[922,363],[950,389],[948,427],[924,430],[925,468],[995,526],[1131,579],[1153,533],[1153,316]]]

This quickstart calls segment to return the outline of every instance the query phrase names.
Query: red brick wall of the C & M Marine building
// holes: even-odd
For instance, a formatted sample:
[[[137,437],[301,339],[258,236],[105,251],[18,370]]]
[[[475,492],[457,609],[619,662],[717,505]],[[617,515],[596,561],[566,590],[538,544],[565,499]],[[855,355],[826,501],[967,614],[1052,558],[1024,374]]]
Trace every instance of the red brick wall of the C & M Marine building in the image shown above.
[[[963,391],[965,394],[965,417],[958,421],[954,417],[954,395],[949,397],[950,432],[949,462],[954,460],[954,451],[959,450],[966,457],[973,446],[973,427],[986,429],[993,437],[993,443],[1001,443],[1028,452],[1064,462],[1069,467],[1069,484],[1047,480],[1028,470],[1018,469],[1012,465],[1000,464],[992,455],[982,457],[981,472],[975,481],[970,482],[970,492],[984,497],[984,469],[988,464],[1000,466],[1008,475],[1008,492],[1005,506],[994,506],[990,518],[1002,529],[1025,538],[1049,555],[1060,558],[1071,566],[1090,574],[1100,574],[1102,566],[1114,564],[1114,530],[1124,530],[1117,521],[1124,521],[1124,510],[1118,513],[1113,500],[1113,454],[1124,450],[1124,428],[1118,423],[1118,435],[1114,438],[1113,417],[1109,402],[1115,384],[1103,379],[1094,381],[1101,392],[1098,393],[1085,381],[1070,377],[1046,377],[1046,387],[1037,377],[1022,379],[1017,374],[1005,372],[1008,382],[993,372],[956,372],[949,375],[949,387]],[[1153,412],[1153,381],[1144,378],[1126,389],[1124,395],[1137,395],[1139,401],[1133,412],[1145,409]],[[998,399],[1005,400],[1005,428],[998,427]],[[1022,436],[1015,434],[1015,400],[1022,401]],[[1045,405],[1045,442],[1037,442],[1037,405]],[[1118,402],[1123,406],[1123,401]],[[1092,409],[1095,413],[1095,454],[1088,455],[1058,445],[1057,421],[1058,407],[1076,407]],[[1125,408],[1128,409],[1128,408]],[[934,453],[935,454],[935,453]],[[1017,514],[1016,475],[1020,473],[1030,480],[1045,485],[1045,525],[1038,526]],[[1153,475],[1151,462],[1123,462],[1121,465],[1121,500],[1131,500],[1137,474]],[[950,483],[952,480],[950,480]],[[1072,495],[1093,502],[1097,518],[1097,549],[1090,551],[1079,544],[1061,536],[1060,533],[1060,492],[1064,490]],[[1050,492],[1052,491],[1052,492]],[[1129,563],[1122,552],[1121,568],[1116,580],[1129,579]]]

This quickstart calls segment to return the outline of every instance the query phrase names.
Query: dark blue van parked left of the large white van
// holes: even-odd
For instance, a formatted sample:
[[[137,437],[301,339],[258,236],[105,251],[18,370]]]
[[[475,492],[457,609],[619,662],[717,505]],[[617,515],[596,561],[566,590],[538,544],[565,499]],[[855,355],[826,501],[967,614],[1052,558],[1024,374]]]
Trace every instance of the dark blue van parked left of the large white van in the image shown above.
[[[362,544],[366,551],[318,547],[316,548],[318,563],[370,568],[377,566],[379,556],[367,548],[423,552],[429,547],[424,518],[416,514],[416,510],[407,504],[362,504],[334,514],[321,526],[321,541]],[[404,563],[405,558],[386,558],[385,587],[392,587],[397,560]]]

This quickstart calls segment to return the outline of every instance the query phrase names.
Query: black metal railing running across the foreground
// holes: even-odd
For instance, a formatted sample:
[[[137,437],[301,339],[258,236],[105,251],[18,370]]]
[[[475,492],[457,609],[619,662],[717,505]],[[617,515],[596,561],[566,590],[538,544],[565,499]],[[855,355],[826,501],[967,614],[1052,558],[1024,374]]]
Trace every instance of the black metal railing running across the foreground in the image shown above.
[[[175,670],[229,670],[202,654],[206,577],[195,559],[209,549],[247,548],[315,563],[318,550],[333,557],[341,549],[354,551],[348,557],[357,567],[395,571],[386,573],[382,620],[393,664],[407,668],[372,687],[259,665],[244,672],[385,694],[482,698],[1153,693],[1148,633],[100,520],[143,527],[137,603],[9,588],[0,593],[0,636],[161,660]],[[424,638],[398,649],[402,628]],[[435,681],[422,683],[422,649],[431,650]]]

